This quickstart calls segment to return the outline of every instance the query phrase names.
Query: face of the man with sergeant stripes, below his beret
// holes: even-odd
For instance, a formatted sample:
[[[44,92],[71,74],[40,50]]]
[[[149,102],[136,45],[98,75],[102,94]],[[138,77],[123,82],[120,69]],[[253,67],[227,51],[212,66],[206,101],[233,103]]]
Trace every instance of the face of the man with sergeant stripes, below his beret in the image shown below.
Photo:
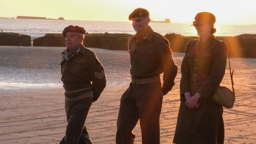
[[[75,32],[67,32],[65,37],[65,44],[69,50],[73,50],[83,41],[83,38]]]

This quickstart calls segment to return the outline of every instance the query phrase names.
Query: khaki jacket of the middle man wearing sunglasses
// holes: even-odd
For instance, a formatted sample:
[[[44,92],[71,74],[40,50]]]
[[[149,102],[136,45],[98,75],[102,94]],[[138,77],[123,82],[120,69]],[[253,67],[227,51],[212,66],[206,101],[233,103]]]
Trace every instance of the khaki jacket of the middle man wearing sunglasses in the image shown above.
[[[151,78],[163,73],[163,89],[172,89],[178,67],[167,39],[149,26],[144,38],[139,39],[138,33],[130,37],[128,50],[133,78]]]

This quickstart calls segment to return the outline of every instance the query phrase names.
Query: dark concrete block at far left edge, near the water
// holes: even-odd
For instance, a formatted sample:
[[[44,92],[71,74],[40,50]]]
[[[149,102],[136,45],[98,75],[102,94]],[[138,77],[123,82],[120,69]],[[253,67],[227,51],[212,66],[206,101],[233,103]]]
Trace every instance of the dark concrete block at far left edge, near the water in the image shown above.
[[[31,37],[19,33],[0,33],[0,46],[31,46]]]

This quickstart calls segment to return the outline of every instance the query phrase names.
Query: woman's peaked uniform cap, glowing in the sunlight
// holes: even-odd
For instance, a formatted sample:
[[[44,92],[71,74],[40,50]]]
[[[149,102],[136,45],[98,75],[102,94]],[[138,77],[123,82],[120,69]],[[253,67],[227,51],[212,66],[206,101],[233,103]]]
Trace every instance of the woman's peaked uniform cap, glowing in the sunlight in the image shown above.
[[[195,21],[193,21],[193,24],[191,26],[205,23],[214,25],[215,21],[216,18],[212,13],[200,12],[195,16]]]

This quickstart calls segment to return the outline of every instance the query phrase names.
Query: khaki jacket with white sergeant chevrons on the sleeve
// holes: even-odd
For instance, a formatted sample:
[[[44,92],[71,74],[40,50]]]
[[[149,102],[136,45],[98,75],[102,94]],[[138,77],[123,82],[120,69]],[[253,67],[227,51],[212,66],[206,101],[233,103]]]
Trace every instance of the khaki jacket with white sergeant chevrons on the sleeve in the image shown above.
[[[61,81],[65,90],[91,87],[96,101],[106,87],[105,70],[95,53],[82,44],[69,59],[67,49],[61,53]]]

